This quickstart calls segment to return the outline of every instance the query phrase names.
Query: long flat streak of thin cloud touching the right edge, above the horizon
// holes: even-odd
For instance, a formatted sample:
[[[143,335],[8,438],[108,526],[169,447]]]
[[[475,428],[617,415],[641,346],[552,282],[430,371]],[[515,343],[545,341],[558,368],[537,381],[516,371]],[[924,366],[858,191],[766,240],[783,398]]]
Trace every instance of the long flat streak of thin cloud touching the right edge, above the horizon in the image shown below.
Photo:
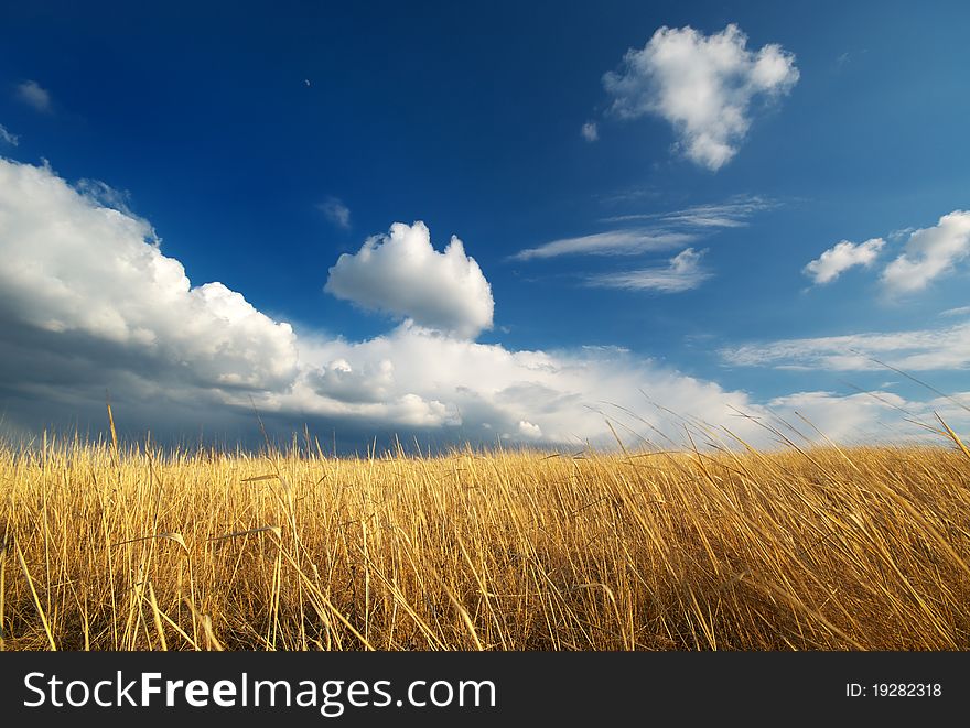
[[[970,323],[936,329],[780,339],[725,348],[721,356],[743,367],[875,370],[883,368],[873,361],[877,359],[903,371],[967,369]]]

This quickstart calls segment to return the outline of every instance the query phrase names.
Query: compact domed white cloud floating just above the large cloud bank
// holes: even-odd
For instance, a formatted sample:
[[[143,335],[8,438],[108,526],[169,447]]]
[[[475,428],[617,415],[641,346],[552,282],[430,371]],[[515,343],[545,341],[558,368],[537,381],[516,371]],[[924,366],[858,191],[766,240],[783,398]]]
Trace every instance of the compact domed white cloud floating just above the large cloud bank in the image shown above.
[[[410,318],[420,326],[474,338],[492,328],[492,286],[452,236],[444,252],[423,222],[396,222],[330,269],[325,290],[364,308]]]

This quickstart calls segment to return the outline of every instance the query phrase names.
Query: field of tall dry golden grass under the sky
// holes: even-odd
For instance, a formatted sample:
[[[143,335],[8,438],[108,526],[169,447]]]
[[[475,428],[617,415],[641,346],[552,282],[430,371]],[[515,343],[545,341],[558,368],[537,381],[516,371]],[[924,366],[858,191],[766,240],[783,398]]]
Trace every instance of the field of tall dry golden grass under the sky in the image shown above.
[[[970,649],[959,448],[67,442],[0,495],[4,650]]]

